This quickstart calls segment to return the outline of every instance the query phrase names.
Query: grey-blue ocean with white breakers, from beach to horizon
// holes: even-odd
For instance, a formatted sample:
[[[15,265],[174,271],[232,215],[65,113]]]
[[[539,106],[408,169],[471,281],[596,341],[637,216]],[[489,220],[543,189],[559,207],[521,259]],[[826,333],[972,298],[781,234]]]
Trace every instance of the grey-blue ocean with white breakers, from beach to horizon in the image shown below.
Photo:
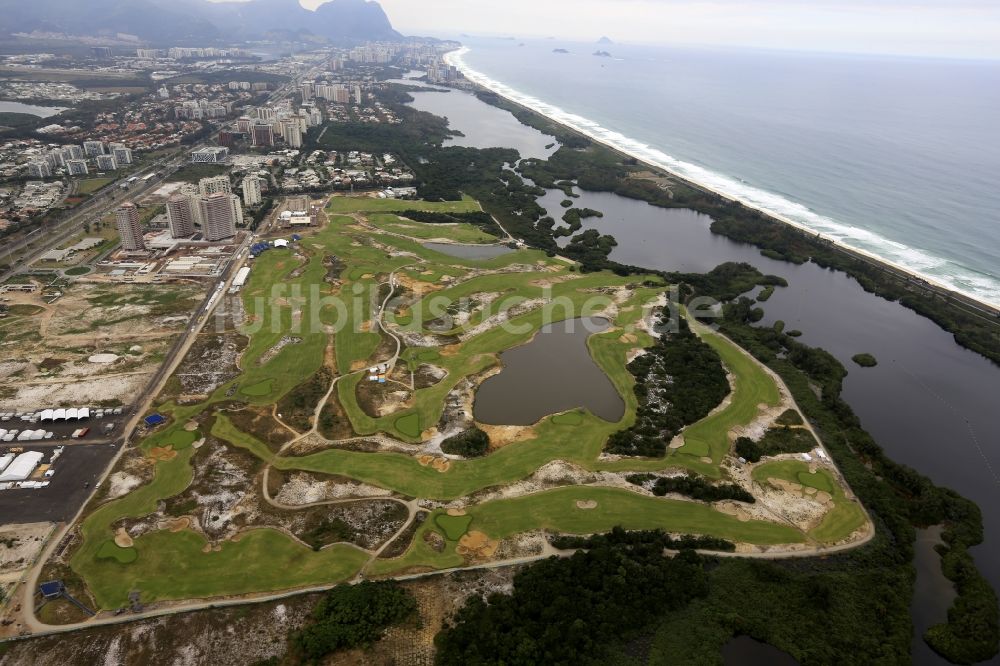
[[[1000,62],[463,42],[505,96],[1000,306]]]

